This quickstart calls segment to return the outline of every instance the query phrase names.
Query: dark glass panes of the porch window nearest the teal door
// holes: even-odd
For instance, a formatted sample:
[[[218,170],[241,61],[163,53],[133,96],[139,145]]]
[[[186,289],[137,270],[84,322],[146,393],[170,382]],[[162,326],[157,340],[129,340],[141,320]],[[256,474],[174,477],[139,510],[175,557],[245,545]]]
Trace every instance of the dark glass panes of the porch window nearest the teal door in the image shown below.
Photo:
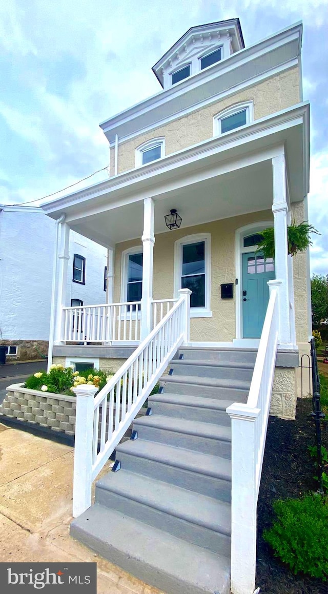
[[[193,291],[190,307],[205,307],[205,242],[182,245],[181,289]]]

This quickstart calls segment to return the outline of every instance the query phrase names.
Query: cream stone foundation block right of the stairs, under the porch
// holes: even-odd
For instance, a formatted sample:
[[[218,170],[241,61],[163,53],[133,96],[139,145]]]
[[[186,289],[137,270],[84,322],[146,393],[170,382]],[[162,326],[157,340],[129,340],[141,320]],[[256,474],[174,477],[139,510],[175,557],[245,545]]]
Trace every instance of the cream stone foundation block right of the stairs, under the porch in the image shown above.
[[[295,419],[297,404],[295,368],[276,367],[273,378],[270,415]]]

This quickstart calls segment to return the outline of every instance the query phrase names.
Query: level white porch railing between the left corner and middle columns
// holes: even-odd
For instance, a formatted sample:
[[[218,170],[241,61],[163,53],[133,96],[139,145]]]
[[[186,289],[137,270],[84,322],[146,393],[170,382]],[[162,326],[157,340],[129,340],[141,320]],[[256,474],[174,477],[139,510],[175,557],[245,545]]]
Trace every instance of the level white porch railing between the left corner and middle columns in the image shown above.
[[[141,302],[64,307],[65,342],[139,342]]]

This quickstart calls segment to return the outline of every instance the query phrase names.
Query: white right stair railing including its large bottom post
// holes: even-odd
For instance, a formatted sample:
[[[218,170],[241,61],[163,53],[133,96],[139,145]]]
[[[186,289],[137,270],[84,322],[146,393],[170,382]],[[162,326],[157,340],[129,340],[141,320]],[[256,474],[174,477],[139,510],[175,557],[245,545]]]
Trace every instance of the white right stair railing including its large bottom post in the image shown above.
[[[276,283],[276,281],[274,281]],[[268,283],[270,286],[270,282]],[[256,571],[257,498],[266,443],[279,335],[277,288],[270,299],[247,404],[227,410],[232,431],[231,591],[253,594]]]

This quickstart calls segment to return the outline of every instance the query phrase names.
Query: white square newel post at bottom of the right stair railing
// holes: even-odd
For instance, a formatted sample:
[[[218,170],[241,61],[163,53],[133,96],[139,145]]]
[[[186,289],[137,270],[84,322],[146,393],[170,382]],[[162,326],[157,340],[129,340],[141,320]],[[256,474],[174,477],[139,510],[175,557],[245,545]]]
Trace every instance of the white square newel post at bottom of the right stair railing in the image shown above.
[[[257,418],[260,409],[234,403],[231,417],[231,592],[252,594],[256,572]]]

